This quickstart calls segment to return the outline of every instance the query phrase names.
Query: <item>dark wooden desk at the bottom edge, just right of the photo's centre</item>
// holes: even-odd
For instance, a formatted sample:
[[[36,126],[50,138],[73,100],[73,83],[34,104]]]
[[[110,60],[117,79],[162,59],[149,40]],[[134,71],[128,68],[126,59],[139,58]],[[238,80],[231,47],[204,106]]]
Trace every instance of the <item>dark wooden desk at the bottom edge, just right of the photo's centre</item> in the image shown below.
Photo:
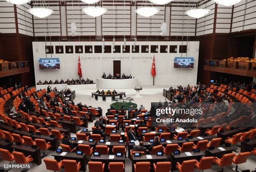
[[[132,156],[132,172],[134,172],[134,165],[136,162],[150,162],[150,169],[151,171],[154,171],[153,163],[156,162],[164,162],[167,161],[167,157],[165,154],[163,156],[157,156],[155,154],[151,154],[152,159],[147,159],[146,154],[142,154],[140,157],[135,157],[134,154]]]

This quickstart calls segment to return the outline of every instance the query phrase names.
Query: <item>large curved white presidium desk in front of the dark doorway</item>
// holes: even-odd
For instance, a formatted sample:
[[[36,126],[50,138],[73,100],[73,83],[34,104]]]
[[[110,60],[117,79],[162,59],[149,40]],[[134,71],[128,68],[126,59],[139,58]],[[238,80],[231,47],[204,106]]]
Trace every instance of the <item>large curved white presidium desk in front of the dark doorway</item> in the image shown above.
[[[97,89],[133,89],[136,86],[138,86],[138,78],[131,78],[131,79],[97,78],[96,79]],[[108,91],[108,90],[104,90],[104,91]]]

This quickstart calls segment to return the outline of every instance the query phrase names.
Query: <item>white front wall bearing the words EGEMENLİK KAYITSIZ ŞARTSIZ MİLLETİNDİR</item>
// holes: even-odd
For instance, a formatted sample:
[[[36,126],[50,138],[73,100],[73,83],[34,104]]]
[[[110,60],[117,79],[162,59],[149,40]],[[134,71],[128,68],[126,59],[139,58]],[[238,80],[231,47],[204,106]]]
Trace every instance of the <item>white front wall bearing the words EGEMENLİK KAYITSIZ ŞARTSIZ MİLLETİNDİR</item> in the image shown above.
[[[150,45],[182,45],[181,42],[148,42]],[[52,42],[52,46],[69,46],[69,42]],[[123,42],[116,42],[115,45],[122,45]],[[186,45],[183,42],[183,45]],[[50,45],[49,42],[46,43],[47,46]],[[78,45],[102,45],[102,42],[70,42],[70,46]],[[112,45],[112,42],[106,42],[105,44]],[[133,45],[133,42],[127,42],[127,45]],[[137,42],[136,45],[146,45],[145,42]],[[39,70],[38,68],[38,58],[45,58],[44,53],[44,42],[33,42],[33,57],[34,57],[34,67],[35,67],[35,78],[36,82],[39,80],[56,80],[63,78],[78,78],[77,66],[78,57],[80,56],[82,74],[84,78],[91,78],[96,81],[96,78],[100,78],[102,73],[113,74],[113,60],[121,61],[121,73],[130,74],[134,77],[139,78],[139,84],[151,85],[153,83],[153,77],[151,76],[151,65],[152,58],[155,56],[156,64],[156,85],[195,85],[197,81],[197,65],[198,65],[198,52],[195,51],[199,45],[198,42],[190,41],[188,42],[188,48],[190,51],[188,53],[80,53],[80,54],[54,54],[52,57],[60,58],[60,68],[59,70]],[[38,52],[36,52],[36,47],[38,47]],[[65,49],[65,48],[64,48]],[[160,46],[159,46],[160,50]],[[64,50],[65,51],[65,50]],[[141,46],[140,46],[141,51]],[[93,49],[94,52],[94,49]],[[132,52],[132,50],[130,50]],[[150,46],[149,46],[150,52]],[[169,52],[169,50],[168,50]],[[179,46],[178,46],[179,52]],[[188,56],[195,58],[195,64],[193,69],[181,69],[173,68],[174,57]],[[47,54],[48,58],[51,58],[51,54]],[[126,59],[123,59],[123,58]],[[120,59],[122,58],[122,59]],[[128,59],[127,59],[128,58]]]

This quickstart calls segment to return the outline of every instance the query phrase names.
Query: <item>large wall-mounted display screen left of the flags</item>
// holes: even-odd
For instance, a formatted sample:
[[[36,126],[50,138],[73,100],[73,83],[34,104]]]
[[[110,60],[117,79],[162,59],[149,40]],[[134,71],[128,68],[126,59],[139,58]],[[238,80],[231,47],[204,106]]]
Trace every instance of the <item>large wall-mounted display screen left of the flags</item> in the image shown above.
[[[59,58],[39,58],[39,69],[60,69]]]

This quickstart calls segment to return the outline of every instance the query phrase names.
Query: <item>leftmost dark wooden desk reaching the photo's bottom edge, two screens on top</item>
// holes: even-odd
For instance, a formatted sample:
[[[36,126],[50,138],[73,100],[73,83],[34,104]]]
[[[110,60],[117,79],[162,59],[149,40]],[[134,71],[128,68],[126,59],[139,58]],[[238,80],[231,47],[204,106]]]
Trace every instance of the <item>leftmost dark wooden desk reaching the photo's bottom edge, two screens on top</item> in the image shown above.
[[[83,170],[84,172],[86,171],[87,159],[85,154],[79,155],[74,152],[67,152],[65,156],[61,156],[60,154],[61,153],[59,152],[54,152],[51,156],[54,156],[54,159],[56,159],[58,162],[63,159],[76,160],[77,162],[81,163],[80,170]]]

